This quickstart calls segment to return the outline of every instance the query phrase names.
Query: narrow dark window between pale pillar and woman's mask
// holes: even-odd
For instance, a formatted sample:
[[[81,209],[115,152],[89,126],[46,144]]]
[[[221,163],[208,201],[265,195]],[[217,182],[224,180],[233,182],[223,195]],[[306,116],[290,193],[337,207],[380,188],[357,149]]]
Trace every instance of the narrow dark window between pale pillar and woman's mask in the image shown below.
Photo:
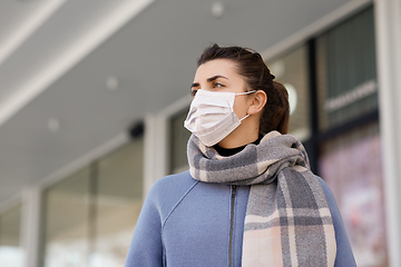
[[[189,107],[176,113],[170,120],[170,174],[177,174],[188,169],[186,148],[190,131],[184,128],[184,120],[186,119],[188,110]]]

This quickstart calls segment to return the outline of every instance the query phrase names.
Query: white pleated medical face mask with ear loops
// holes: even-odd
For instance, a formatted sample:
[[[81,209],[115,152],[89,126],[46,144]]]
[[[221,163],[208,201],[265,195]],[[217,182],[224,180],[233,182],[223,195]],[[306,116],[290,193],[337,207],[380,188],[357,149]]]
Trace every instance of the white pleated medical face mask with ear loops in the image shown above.
[[[194,134],[207,147],[212,147],[223,140],[241,121],[250,115],[238,119],[234,112],[235,96],[255,92],[216,92],[199,89],[190,103],[189,112],[184,127]]]

